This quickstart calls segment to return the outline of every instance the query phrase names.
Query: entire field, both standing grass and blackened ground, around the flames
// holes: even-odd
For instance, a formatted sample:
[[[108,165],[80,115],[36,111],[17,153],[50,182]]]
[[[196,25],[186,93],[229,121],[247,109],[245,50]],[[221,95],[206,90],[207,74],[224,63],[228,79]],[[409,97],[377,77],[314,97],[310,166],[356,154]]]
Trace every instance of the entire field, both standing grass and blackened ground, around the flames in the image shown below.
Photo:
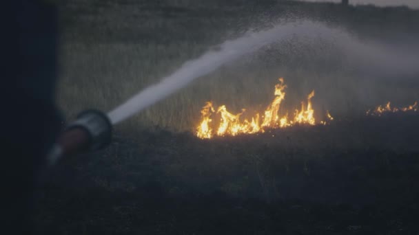
[[[309,18],[415,51],[418,11],[294,1],[94,1],[61,5],[68,119],[108,111],[248,28]],[[285,50],[283,50],[285,48]],[[385,68],[382,68],[385,71]],[[280,42],[222,67],[116,126],[112,145],[45,172],[39,234],[417,234],[418,113],[366,116],[419,100],[418,74],[365,72],[333,45]],[[207,100],[265,109],[278,77],[287,109],[316,90],[327,126],[198,139]]]

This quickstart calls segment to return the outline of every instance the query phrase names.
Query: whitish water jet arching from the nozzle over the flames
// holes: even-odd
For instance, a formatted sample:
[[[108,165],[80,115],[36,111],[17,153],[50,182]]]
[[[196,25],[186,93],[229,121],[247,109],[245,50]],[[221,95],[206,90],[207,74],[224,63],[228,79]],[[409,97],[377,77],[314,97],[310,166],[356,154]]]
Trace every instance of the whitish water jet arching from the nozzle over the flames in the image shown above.
[[[217,50],[212,49],[199,58],[187,61],[181,68],[163,78],[158,84],[147,87],[108,113],[110,120],[112,120],[112,124],[119,123],[170,96],[192,80],[210,74],[222,65],[252,54],[265,45],[294,40],[294,38],[300,38],[308,43],[327,41],[327,43],[337,45],[342,49],[344,56],[353,63],[351,66],[365,71],[407,76],[419,74],[419,56],[411,52],[400,52],[400,50],[391,47],[362,43],[349,33],[327,27],[322,23],[311,21],[287,23],[276,25],[269,30],[248,32],[241,38],[225,41]]]

